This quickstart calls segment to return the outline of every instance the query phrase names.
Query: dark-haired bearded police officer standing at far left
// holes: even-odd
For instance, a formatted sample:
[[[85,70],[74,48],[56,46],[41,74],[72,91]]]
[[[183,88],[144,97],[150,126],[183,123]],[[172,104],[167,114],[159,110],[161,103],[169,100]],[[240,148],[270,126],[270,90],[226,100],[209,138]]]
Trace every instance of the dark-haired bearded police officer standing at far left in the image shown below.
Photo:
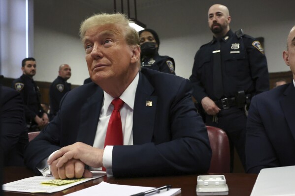
[[[12,88],[20,92],[25,109],[25,116],[29,132],[40,131],[48,124],[48,116],[40,104],[39,87],[33,80],[36,74],[36,60],[28,57],[22,61],[23,75],[12,82]]]

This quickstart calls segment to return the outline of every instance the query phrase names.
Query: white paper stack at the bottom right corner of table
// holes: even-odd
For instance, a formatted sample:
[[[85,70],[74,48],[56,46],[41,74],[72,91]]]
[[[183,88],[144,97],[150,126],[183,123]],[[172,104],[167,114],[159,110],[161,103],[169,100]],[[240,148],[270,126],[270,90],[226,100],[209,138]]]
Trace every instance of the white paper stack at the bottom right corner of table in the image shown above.
[[[295,166],[262,169],[251,196],[295,196]]]

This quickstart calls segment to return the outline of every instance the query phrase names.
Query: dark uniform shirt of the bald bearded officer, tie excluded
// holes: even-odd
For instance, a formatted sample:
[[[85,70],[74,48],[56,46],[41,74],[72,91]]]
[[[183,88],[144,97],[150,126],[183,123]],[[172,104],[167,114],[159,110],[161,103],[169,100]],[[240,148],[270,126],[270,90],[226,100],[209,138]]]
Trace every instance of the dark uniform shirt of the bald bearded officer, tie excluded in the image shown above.
[[[213,51],[217,40],[213,40],[197,51],[190,81],[193,83],[193,96],[197,102],[213,95]],[[269,89],[266,57],[260,43],[249,35],[238,38],[231,30],[221,41],[221,65],[224,95],[234,97],[238,91],[258,94]]]

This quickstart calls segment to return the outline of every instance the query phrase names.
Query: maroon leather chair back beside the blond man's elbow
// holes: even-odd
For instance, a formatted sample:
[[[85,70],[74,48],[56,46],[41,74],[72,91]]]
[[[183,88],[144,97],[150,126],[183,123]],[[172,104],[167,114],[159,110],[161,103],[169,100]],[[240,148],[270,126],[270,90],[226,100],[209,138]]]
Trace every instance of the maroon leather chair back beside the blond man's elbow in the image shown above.
[[[229,138],[222,129],[206,126],[212,149],[212,158],[208,173],[229,173]]]

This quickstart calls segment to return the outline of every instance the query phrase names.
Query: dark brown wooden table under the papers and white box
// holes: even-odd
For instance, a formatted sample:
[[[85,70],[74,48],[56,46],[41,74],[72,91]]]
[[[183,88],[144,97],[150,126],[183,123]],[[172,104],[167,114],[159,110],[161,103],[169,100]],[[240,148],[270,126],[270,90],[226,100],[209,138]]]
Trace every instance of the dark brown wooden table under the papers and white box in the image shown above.
[[[223,174],[226,177],[229,186],[229,196],[250,196],[255,184],[257,174],[246,173],[209,173],[211,175]],[[206,175],[206,174],[205,174]],[[33,171],[23,167],[6,167],[4,168],[4,183],[20,180],[34,176]],[[182,176],[158,176],[158,177],[142,177],[142,178],[116,178],[116,177],[101,177],[91,180],[77,186],[71,187],[64,191],[52,194],[29,194],[21,192],[4,192],[4,196],[64,196],[75,191],[79,191],[100,182],[108,182],[112,184],[161,187],[166,184],[172,185],[172,188],[181,188],[181,196],[197,196],[198,175],[182,175]],[[98,194],[99,195],[99,194]]]

